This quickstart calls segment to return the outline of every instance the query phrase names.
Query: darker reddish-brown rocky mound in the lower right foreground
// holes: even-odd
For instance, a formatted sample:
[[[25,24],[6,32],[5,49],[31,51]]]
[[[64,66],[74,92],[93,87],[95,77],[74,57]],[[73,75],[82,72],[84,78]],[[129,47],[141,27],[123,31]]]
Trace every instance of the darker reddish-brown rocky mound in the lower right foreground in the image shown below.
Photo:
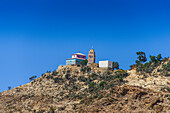
[[[135,112],[154,113],[169,112],[169,95],[163,95],[150,89],[138,86],[123,85],[103,92],[104,98],[94,100],[92,104],[79,105],[81,112]],[[107,94],[110,94],[107,96]]]

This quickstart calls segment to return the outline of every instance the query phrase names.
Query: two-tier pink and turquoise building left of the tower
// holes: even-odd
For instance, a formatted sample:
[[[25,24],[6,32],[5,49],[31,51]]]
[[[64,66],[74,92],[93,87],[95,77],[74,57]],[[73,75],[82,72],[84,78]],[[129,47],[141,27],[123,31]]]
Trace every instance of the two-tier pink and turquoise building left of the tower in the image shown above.
[[[72,54],[72,58],[66,59],[66,65],[77,65],[83,60],[86,60],[86,55],[82,53],[75,53]]]

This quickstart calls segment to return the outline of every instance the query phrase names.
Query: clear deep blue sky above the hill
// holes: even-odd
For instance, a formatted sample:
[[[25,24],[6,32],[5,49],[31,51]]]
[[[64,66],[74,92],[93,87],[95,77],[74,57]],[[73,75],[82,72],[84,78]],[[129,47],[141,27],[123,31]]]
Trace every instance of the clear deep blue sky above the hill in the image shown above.
[[[0,91],[53,71],[72,53],[135,63],[170,55],[169,0],[0,0]]]

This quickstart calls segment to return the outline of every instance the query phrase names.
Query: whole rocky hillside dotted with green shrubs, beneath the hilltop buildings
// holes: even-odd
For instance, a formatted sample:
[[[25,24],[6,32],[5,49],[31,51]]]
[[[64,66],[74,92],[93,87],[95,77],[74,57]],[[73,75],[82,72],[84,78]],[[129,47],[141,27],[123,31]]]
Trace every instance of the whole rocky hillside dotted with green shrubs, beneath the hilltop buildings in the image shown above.
[[[169,76],[60,66],[0,93],[4,112],[170,112]]]

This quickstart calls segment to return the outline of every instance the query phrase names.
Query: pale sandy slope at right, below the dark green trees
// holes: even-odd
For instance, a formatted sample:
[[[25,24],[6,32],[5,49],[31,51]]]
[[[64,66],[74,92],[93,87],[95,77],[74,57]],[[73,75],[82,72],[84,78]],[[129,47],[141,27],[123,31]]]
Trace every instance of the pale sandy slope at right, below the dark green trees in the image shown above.
[[[155,91],[170,92],[170,59],[156,66],[151,73],[128,71],[128,85],[142,86]]]

